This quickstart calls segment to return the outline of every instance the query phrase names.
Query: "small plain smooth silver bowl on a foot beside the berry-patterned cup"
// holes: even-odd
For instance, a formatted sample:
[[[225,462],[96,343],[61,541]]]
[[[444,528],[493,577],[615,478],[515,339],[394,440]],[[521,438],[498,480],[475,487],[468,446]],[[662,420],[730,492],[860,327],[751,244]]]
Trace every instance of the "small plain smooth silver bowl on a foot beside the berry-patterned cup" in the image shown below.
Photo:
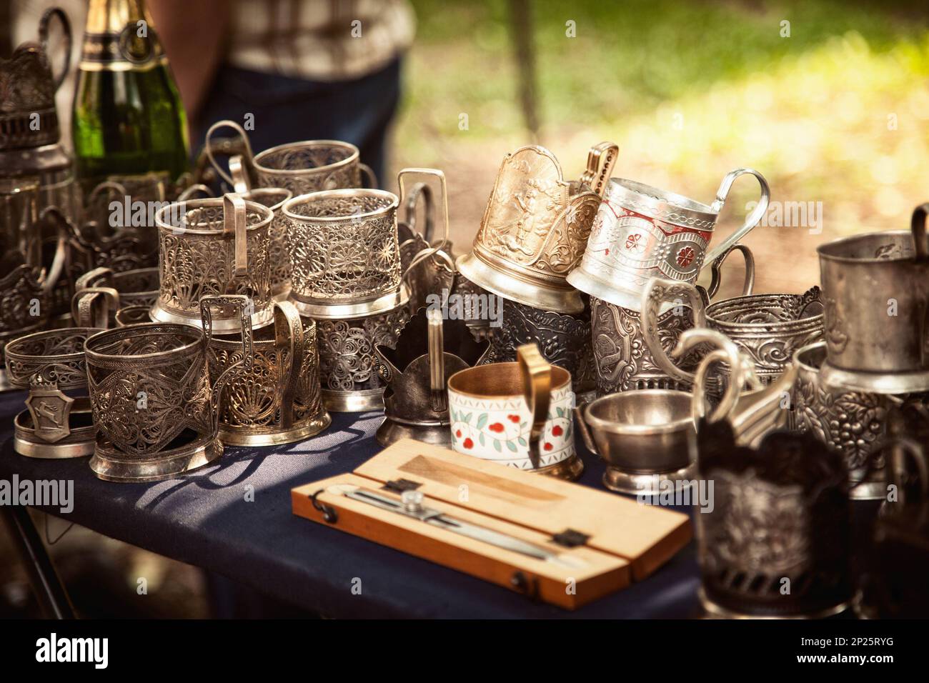
[[[584,443],[608,464],[604,486],[654,495],[665,479],[689,485],[697,459],[690,403],[687,391],[636,389],[576,408]]]

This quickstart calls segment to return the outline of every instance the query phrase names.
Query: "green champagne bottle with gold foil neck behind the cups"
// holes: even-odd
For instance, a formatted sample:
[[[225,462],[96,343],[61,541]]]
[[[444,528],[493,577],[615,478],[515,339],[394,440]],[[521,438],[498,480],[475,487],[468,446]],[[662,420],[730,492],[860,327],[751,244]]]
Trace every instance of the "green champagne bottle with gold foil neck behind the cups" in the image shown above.
[[[187,116],[143,0],[90,0],[72,132],[85,191],[188,170]]]

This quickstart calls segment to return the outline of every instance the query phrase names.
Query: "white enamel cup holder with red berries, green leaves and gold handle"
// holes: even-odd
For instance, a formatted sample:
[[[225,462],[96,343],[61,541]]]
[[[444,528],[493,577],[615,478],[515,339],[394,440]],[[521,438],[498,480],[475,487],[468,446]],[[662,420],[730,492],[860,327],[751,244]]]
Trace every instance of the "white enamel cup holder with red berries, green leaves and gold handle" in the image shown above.
[[[517,362],[478,365],[448,381],[451,447],[500,465],[577,479],[574,392],[564,368],[539,349],[517,349]]]

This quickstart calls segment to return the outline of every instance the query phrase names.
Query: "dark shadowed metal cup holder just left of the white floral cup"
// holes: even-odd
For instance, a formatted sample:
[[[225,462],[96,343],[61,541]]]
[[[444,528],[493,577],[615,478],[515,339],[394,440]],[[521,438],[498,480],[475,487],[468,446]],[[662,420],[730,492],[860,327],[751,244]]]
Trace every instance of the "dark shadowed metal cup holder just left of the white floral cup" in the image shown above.
[[[464,321],[443,323],[436,309],[420,309],[403,327],[396,348],[375,346],[377,371],[386,383],[378,442],[451,444],[446,377],[478,364],[488,346],[487,340],[475,341]]]

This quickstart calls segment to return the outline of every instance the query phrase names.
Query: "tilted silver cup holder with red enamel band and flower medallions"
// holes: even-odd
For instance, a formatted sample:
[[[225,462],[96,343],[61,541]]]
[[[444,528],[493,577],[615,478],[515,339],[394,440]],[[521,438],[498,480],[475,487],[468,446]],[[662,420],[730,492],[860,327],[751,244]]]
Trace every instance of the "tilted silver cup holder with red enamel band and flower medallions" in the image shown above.
[[[761,186],[758,204],[738,230],[709,249],[729,190],[743,174],[757,178]],[[700,204],[634,180],[611,178],[581,263],[570,272],[568,282],[590,296],[640,310],[649,278],[697,282],[704,263],[713,263],[758,225],[769,197],[765,177],[751,168],[727,174],[713,204]]]

